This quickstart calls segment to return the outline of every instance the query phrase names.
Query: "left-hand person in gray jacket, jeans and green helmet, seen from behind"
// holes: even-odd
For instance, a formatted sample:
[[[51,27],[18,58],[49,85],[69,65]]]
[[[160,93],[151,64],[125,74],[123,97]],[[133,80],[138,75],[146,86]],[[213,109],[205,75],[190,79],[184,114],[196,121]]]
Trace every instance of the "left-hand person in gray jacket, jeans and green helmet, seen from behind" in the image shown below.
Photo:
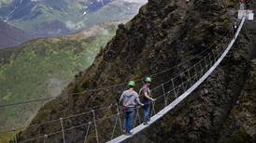
[[[123,110],[125,112],[124,117],[124,132],[126,135],[132,135],[131,129],[133,126],[134,114],[135,114],[135,105],[139,104],[144,106],[139,100],[138,94],[135,92],[135,82],[130,81],[128,83],[129,89],[125,90],[120,97],[120,103],[122,104]]]

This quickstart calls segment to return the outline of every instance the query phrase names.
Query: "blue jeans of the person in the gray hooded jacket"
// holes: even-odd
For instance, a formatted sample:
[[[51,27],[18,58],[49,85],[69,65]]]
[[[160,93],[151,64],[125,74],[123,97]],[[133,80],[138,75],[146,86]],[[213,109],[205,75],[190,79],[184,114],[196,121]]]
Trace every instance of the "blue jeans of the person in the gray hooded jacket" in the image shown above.
[[[133,127],[133,121],[134,121],[134,115],[135,115],[135,108],[127,108],[124,109],[125,111],[125,117],[124,117],[124,128],[127,133],[131,132],[131,129]]]

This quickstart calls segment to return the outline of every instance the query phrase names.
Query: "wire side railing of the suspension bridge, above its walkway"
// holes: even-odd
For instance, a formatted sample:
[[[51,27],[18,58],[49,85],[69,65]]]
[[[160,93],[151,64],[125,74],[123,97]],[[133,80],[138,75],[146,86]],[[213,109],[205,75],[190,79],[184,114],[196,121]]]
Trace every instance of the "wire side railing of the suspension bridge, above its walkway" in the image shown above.
[[[217,59],[220,58],[225,47],[224,45],[227,45],[230,39],[232,39],[232,36],[231,38],[230,35],[226,36],[220,45],[207,50],[207,53],[204,53],[204,58],[200,58],[190,68],[179,72],[171,79],[164,81],[163,84],[155,86],[151,90],[151,95],[155,98],[155,101],[149,103],[150,116],[154,116],[157,112],[164,109],[164,107],[186,92],[192,84],[195,84]],[[141,124],[144,120],[142,109],[143,107],[135,108],[134,127]],[[73,139],[76,138],[69,137],[72,135],[80,136],[77,138],[81,138],[82,142],[90,142],[92,140],[93,142],[106,142],[107,140],[111,140],[123,134],[123,115],[124,110],[115,103],[97,110],[90,110],[45,123],[31,124],[27,129],[35,130],[35,132],[33,135],[29,135],[29,138],[19,140],[20,138],[16,136],[16,130],[18,129],[13,129],[9,132],[15,134],[14,142],[21,143],[72,142],[74,141]],[[101,126],[100,124],[108,125]],[[43,128],[50,126],[50,132],[44,131],[43,133],[36,134],[38,126],[42,126]],[[81,140],[79,140],[79,142],[81,142]]]

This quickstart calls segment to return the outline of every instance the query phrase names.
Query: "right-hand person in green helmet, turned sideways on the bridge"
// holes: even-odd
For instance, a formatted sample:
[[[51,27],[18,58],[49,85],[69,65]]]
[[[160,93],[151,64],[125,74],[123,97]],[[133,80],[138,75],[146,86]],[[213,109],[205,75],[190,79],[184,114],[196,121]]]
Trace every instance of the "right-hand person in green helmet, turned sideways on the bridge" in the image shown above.
[[[149,89],[150,83],[151,83],[151,78],[150,77],[146,77],[145,79],[145,84],[141,87],[141,89],[139,90],[139,95],[140,97],[142,97],[142,103],[144,104],[143,110],[144,110],[144,125],[147,125],[148,122],[150,121],[150,117],[149,117],[149,105],[150,102],[154,102],[155,99],[152,98],[150,96],[151,92]]]

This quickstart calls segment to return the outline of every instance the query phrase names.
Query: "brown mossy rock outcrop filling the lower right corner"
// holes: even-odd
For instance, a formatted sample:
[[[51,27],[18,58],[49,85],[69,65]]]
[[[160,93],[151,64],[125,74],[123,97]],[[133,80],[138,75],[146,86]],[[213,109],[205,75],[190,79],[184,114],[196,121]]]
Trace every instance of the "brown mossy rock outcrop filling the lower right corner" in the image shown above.
[[[256,142],[256,60],[250,62],[248,80],[221,130],[219,142]]]

